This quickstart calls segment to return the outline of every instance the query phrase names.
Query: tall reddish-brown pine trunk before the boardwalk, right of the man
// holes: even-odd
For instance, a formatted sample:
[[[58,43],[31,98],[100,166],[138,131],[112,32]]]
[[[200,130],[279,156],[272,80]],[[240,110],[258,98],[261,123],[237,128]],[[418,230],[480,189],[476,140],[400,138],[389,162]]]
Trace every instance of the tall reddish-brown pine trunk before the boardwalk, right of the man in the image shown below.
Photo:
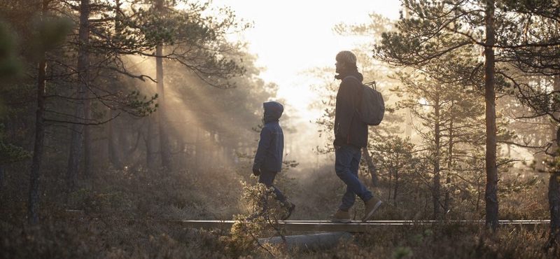
[[[493,45],[496,43],[494,0],[486,1],[486,45],[484,47],[484,98],[486,99],[486,225],[498,228],[498,167],[496,165],[496,74]]]

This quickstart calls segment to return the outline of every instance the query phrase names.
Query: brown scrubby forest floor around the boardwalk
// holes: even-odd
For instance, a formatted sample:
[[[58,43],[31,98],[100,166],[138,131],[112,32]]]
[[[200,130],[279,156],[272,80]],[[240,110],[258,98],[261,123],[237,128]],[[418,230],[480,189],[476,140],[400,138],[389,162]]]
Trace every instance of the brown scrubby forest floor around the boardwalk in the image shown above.
[[[464,223],[386,226],[353,234],[351,239],[321,251],[258,246],[251,239],[267,237],[269,230],[250,229],[245,234],[251,235],[239,235],[233,229],[195,230],[178,225],[178,220],[232,220],[235,215],[248,214],[248,205],[241,199],[243,183],[251,186],[255,179],[228,169],[207,170],[204,174],[110,169],[83,179],[73,193],[62,191],[63,178],[53,170],[41,182],[41,221],[30,226],[25,219],[26,179],[10,176],[6,188],[0,190],[0,258],[556,257],[554,248],[547,252],[544,249],[547,225],[503,225],[495,232],[484,225]],[[305,181],[283,177],[278,183],[297,204],[290,220],[327,220],[344,190],[334,173]],[[374,193],[386,196],[384,191],[378,188]],[[405,197],[386,202],[373,219],[428,219],[429,202]],[[357,218],[363,208],[359,203],[352,211]],[[469,206],[475,205],[470,202]],[[484,218],[484,209],[461,211],[461,206],[463,203],[456,202],[457,212],[448,214],[449,219]],[[524,193],[501,197],[500,219],[548,219],[544,208],[546,188],[540,183]],[[69,217],[67,209],[84,214]]]

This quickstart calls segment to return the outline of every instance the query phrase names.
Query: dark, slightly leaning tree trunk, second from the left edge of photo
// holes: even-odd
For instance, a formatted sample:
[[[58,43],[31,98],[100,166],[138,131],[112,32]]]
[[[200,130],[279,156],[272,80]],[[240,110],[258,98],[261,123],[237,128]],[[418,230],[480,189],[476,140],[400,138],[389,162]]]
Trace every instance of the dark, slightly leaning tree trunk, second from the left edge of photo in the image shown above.
[[[83,137],[83,118],[84,118],[84,98],[87,91],[87,45],[90,38],[90,0],[81,0],[80,3],[80,31],[78,39],[80,47],[78,49],[78,102],[76,103],[76,124],[72,127],[72,138],[70,141],[70,155],[68,159],[68,169],[66,169],[66,182],[69,191],[72,192],[76,186],[76,179],[80,172],[80,156],[82,153]]]

